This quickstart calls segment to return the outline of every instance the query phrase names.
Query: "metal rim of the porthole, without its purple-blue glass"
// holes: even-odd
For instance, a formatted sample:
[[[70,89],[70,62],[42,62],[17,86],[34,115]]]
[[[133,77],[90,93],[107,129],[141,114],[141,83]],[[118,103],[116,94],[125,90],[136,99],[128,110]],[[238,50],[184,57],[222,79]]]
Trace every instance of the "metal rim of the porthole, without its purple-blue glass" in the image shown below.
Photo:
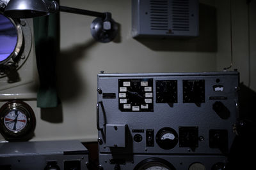
[[[3,12],[0,11],[0,15],[3,15]],[[5,15],[3,16],[6,17]],[[6,57],[6,59],[0,61],[0,78],[8,74],[9,67],[15,67],[17,70],[24,64],[26,59],[28,59],[32,45],[31,29],[26,20],[10,17],[6,18],[12,22],[13,27],[15,27],[17,31],[17,43],[13,52]]]

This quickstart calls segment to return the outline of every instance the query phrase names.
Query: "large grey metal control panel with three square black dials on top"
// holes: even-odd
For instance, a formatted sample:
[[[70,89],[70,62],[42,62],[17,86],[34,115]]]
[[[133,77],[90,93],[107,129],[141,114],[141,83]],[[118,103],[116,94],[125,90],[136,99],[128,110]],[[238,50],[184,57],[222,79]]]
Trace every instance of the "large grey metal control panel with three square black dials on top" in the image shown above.
[[[236,71],[98,74],[100,166],[127,165],[150,154],[165,160],[186,155],[182,161],[202,160],[205,167],[221,155],[217,162],[224,164],[235,137],[238,85]]]

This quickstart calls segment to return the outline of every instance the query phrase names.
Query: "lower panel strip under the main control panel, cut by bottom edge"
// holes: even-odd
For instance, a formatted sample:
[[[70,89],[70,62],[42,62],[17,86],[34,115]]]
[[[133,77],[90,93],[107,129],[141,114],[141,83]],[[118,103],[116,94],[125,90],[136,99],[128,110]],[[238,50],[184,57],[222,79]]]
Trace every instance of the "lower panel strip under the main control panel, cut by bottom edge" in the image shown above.
[[[204,155],[111,155],[100,154],[99,169],[168,169],[168,170],[204,170],[224,169],[226,158]]]

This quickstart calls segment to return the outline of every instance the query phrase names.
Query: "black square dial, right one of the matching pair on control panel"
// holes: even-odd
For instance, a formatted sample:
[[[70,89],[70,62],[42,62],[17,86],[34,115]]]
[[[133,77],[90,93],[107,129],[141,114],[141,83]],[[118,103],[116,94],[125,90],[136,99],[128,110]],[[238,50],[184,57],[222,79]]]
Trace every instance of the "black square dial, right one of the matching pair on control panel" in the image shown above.
[[[204,80],[183,80],[183,103],[204,103]]]

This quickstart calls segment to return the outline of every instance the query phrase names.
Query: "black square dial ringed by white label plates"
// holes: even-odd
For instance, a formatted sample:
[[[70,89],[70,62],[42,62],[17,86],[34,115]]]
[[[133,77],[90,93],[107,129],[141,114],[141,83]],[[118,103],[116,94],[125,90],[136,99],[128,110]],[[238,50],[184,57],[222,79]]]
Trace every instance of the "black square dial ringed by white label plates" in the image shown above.
[[[118,99],[121,111],[154,111],[153,79],[119,79]]]

